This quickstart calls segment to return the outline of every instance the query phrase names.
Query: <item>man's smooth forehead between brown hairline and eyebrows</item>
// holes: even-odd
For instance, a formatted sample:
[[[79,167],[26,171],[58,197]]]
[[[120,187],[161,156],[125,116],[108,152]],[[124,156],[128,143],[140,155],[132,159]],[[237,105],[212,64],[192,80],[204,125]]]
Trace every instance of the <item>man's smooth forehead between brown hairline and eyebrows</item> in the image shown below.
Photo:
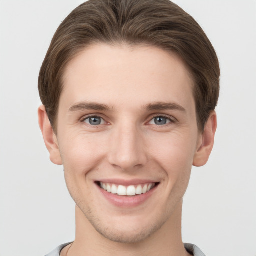
[[[134,109],[171,101],[189,108],[194,105],[192,88],[175,53],[153,46],[94,44],[68,63],[59,108],[82,101]]]

